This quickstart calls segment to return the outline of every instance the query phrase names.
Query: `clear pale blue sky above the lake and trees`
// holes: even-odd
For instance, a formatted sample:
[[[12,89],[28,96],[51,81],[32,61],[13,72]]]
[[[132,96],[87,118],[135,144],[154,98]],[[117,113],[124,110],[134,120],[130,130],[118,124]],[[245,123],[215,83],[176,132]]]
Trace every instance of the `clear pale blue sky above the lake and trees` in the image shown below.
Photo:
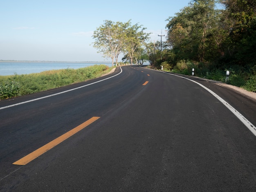
[[[0,60],[110,61],[92,47],[104,20],[131,19],[153,42],[166,33],[166,19],[190,1],[0,0]]]

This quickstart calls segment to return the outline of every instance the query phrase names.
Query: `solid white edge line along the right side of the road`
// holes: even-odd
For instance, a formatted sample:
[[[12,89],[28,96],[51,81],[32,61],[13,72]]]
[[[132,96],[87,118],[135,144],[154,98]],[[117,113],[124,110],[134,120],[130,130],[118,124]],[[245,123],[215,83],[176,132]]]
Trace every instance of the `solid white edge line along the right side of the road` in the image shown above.
[[[166,73],[164,71],[160,71],[162,73]],[[169,74],[169,73],[166,73]],[[184,78],[187,80],[192,81],[193,83],[196,83],[198,85],[200,85],[202,88],[206,89],[208,92],[210,92],[213,96],[215,96],[221,103],[223,103],[223,105],[225,105],[240,121],[242,121],[242,123],[256,136],[256,127],[247,119],[245,118],[245,116],[243,116],[242,114],[240,114],[234,107],[232,107],[229,103],[227,103],[227,101],[225,101],[224,99],[222,99],[220,96],[218,96],[215,92],[211,91],[211,89],[208,89],[207,87],[205,87],[204,85],[191,80],[189,78],[186,77],[182,77],[182,76],[178,76],[175,74],[169,74],[169,75],[173,75],[173,76],[177,76],[180,78]]]

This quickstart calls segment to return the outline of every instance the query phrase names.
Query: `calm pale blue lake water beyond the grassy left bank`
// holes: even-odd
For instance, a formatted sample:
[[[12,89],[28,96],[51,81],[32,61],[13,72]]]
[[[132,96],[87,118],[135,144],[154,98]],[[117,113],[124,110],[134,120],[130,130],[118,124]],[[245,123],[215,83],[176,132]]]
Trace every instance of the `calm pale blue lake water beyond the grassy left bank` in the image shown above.
[[[88,67],[91,65],[108,65],[112,66],[112,63],[39,63],[39,62],[0,62],[0,75],[14,75],[14,74],[31,74],[40,73],[42,71],[49,71],[54,69],[79,69]]]

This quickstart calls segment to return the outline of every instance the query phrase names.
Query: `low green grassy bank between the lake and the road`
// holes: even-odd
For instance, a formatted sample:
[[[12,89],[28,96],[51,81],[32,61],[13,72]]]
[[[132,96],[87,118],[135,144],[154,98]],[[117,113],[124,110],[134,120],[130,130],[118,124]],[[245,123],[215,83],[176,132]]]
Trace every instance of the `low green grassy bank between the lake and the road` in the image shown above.
[[[93,65],[80,69],[59,69],[41,73],[0,76],[0,100],[42,92],[97,78],[113,67]]]

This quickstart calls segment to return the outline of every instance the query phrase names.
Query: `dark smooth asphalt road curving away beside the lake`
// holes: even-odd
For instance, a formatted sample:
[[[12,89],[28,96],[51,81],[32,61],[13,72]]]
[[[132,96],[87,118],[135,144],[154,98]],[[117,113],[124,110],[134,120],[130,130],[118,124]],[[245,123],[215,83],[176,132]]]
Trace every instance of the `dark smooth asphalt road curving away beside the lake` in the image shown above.
[[[191,78],[256,125],[255,101]],[[99,119],[26,165],[13,165],[92,117]],[[118,67],[102,78],[0,101],[4,192],[248,192],[256,190],[255,160],[256,136],[227,107],[198,84],[159,71]]]

